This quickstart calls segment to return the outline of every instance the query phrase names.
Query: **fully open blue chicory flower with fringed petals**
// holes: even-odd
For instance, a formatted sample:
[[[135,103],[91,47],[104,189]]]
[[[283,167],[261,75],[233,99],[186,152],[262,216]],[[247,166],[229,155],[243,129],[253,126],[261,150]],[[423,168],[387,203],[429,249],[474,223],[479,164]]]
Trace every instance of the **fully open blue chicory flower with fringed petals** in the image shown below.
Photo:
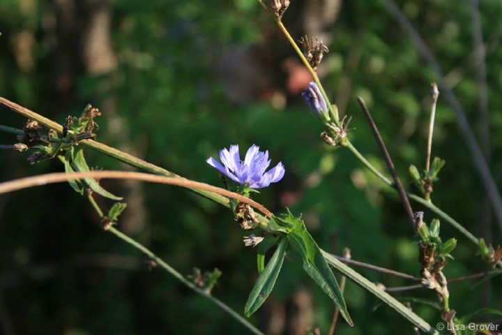
[[[225,166],[213,157],[208,158],[206,162],[233,181],[239,184],[249,184],[250,188],[267,187],[284,177],[282,163],[278,163],[275,168],[265,172],[271,163],[268,159],[268,151],[259,151],[259,147],[254,144],[248,149],[244,161],[241,161],[239,156],[238,145],[231,145],[229,150],[226,148],[220,150],[220,160]]]

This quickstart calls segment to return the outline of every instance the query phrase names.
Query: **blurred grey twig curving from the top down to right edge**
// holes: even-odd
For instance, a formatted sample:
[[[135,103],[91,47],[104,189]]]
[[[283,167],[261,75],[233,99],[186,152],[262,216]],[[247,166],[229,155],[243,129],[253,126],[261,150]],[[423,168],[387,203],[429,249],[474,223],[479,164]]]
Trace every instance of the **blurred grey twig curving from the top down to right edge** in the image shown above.
[[[499,190],[497,189],[497,183],[495,182],[492,172],[490,172],[488,168],[487,161],[482,154],[482,150],[480,149],[478,142],[476,141],[476,137],[469,125],[469,121],[467,120],[464,111],[462,110],[462,106],[460,105],[457,96],[453,93],[451,87],[446,82],[443,71],[439,66],[436,59],[430,52],[427,45],[424,43],[423,39],[418,34],[418,31],[413,27],[413,25],[409,22],[408,19],[403,15],[401,10],[395,5],[392,0],[381,0],[384,6],[386,6],[390,15],[393,15],[395,20],[400,24],[401,28],[406,31],[409,35],[413,43],[415,43],[418,51],[425,59],[427,64],[432,70],[436,73],[438,77],[439,87],[441,87],[441,92],[446,96],[446,100],[450,103],[452,107],[453,114],[455,114],[455,118],[457,119],[457,123],[460,128],[460,133],[464,135],[464,140],[466,141],[467,147],[471,152],[471,156],[473,157],[473,163],[476,165],[478,169],[478,173],[480,174],[480,178],[483,186],[487,192],[490,202],[492,203],[492,207],[494,208],[494,212],[496,214],[496,220],[499,223],[499,228],[501,228],[502,234],[502,198]]]

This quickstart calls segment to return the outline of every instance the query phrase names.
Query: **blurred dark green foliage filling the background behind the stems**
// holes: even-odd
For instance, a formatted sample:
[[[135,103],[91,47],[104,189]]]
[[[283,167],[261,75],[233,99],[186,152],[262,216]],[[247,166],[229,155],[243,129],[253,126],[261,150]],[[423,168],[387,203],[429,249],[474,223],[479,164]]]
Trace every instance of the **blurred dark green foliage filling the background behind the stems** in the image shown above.
[[[332,149],[321,141],[321,126],[300,94],[286,89],[281,64],[294,53],[255,1],[62,1],[71,6],[60,2],[8,0],[0,5],[0,96],[59,123],[68,114],[78,116],[91,103],[103,114],[96,120],[98,141],[217,186],[220,178],[206,158],[217,156],[229,144],[239,144],[241,154],[257,144],[268,149],[273,165],[282,161],[287,172],[283,181],[254,195],[255,200],[276,214],[285,207],[303,214],[307,228],[326,251],[340,255],[348,247],[355,260],[419,275],[413,232],[396,193],[347,149]],[[96,62],[110,54],[115,61],[106,70],[93,70],[93,61],[84,54],[96,40],[84,36],[91,36],[86,34],[93,27],[93,10],[100,6],[111,17],[111,48],[95,50],[93,55]],[[295,39],[305,34],[295,23],[305,6],[291,1],[284,16]],[[480,138],[487,129],[478,108],[468,1],[398,1],[397,6],[423,36]],[[487,45],[489,166],[500,183],[502,5],[480,1],[480,14]],[[328,33],[332,42],[321,68],[323,82],[340,113],[353,117],[351,141],[386,172],[356,105],[356,96],[363,96],[404,185],[411,188],[409,165],[419,170],[425,165],[434,71],[378,1],[343,1]],[[239,57],[238,50],[252,50],[252,57]],[[258,79],[243,79],[249,68]],[[254,85],[255,91],[237,101],[225,82],[236,89]],[[287,101],[285,107],[273,103],[271,97],[277,96]],[[23,121],[0,107],[0,124],[21,128]],[[0,142],[13,144],[15,137],[0,133]],[[58,160],[29,165],[27,156],[0,151],[0,181],[63,171]],[[446,160],[441,180],[434,185],[434,203],[476,236],[499,244],[501,230],[490,216],[463,134],[441,94],[433,156]],[[93,167],[125,168],[93,151],[86,151],[86,158]],[[243,313],[257,278],[256,251],[243,246],[243,231],[227,209],[175,186],[101,184],[129,203],[119,221],[121,230],[184,275],[193,267],[222,270],[213,295]],[[98,202],[104,208],[112,205],[100,198]],[[412,205],[414,211],[423,210]],[[425,221],[432,218],[425,211]],[[149,271],[142,255],[100,230],[98,223],[86,199],[68,184],[0,196],[0,324],[5,334],[247,332],[164,271]],[[448,278],[485,269],[476,246],[447,223],[441,225],[441,237],[459,241],[455,260],[445,269]],[[360,271],[388,287],[411,285]],[[459,315],[483,306],[502,308],[500,277],[475,284],[449,285],[450,306]],[[298,302],[305,292],[313,306]],[[436,301],[434,292],[425,289],[397,297],[412,295]],[[411,334],[411,326],[390,308],[373,311],[377,299],[353,283],[347,283],[344,296],[355,327],[340,322],[337,330],[343,334]],[[413,304],[413,311],[432,325],[441,320],[429,306]],[[264,332],[271,332],[267,328],[271,318],[284,317],[284,334],[301,334],[302,327],[320,327],[326,334],[332,313],[329,299],[298,265],[285,260],[269,301],[251,320]],[[294,322],[300,328],[295,329]]]

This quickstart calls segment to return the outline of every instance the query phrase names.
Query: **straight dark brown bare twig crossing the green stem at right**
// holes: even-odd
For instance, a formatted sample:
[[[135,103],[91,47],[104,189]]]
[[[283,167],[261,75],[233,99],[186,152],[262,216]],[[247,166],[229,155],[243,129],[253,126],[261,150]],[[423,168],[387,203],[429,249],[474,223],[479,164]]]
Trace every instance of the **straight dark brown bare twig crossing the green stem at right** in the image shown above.
[[[390,156],[389,156],[388,151],[386,149],[385,143],[383,143],[383,140],[380,136],[377,125],[374,123],[373,118],[370,114],[370,110],[367,109],[366,104],[363,101],[363,98],[361,98],[359,96],[357,98],[357,101],[365,114],[365,117],[368,121],[368,124],[370,124],[370,128],[372,129],[375,140],[377,140],[381,154],[387,163],[387,167],[389,169],[390,174],[393,176],[394,184],[397,188],[397,193],[399,193],[399,195],[400,195],[401,202],[404,207],[404,211],[406,211],[406,214],[408,215],[409,221],[411,223],[411,227],[414,228],[415,227],[415,219],[413,218],[413,210],[411,209],[411,204],[409,203],[408,197],[406,196],[406,191],[404,191],[404,188],[401,184],[401,180],[400,180],[399,176],[397,175],[397,172],[394,168],[394,164],[393,164],[392,160],[390,159]]]

